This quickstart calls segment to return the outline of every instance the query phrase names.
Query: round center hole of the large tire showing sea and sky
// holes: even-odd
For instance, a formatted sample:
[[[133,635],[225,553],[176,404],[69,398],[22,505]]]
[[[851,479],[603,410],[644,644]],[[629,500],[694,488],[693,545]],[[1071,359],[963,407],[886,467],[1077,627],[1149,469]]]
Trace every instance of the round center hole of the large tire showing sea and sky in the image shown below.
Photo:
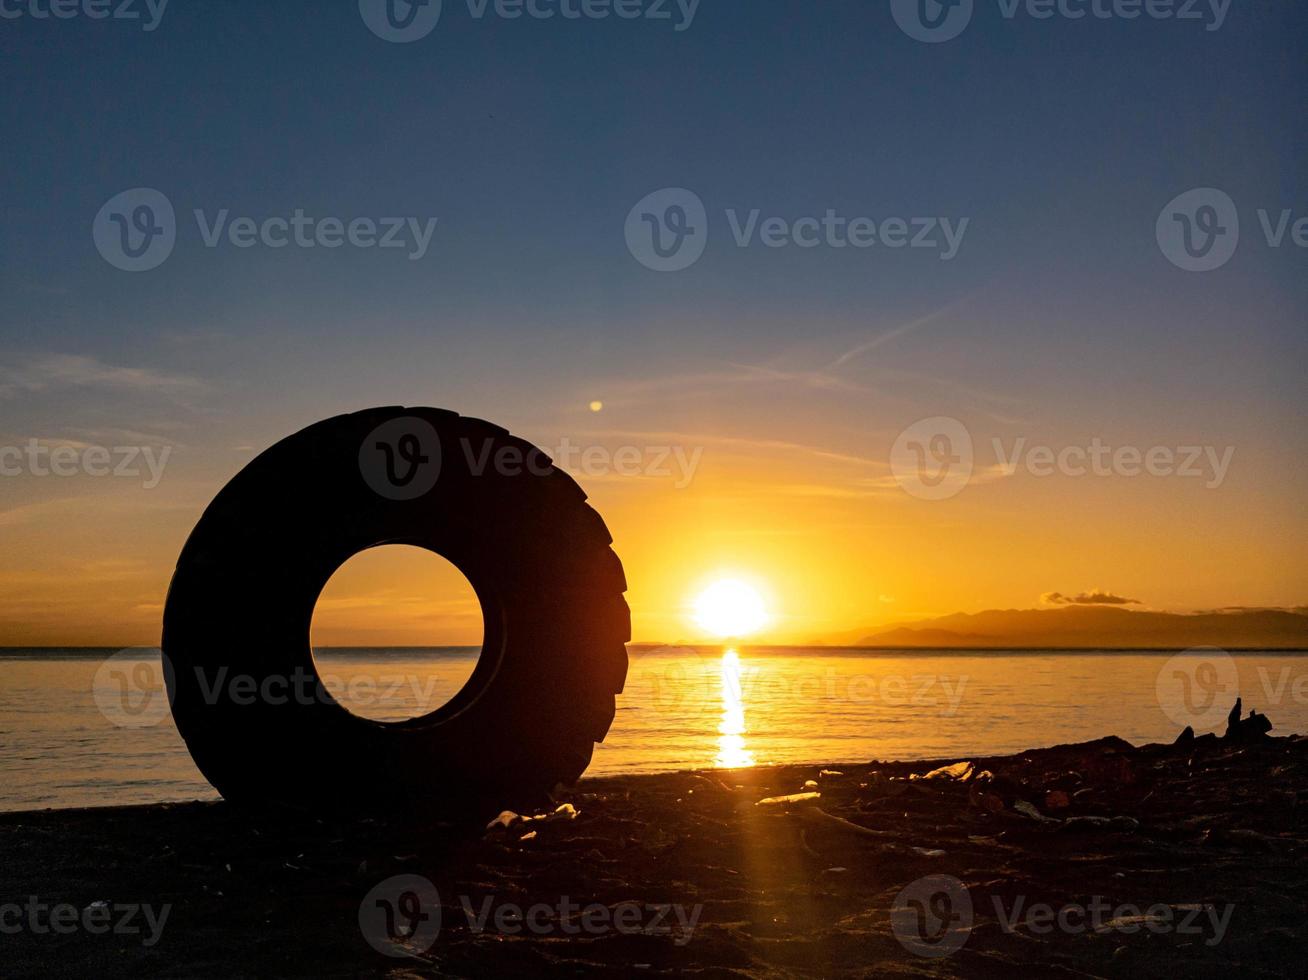
[[[352,714],[429,714],[467,684],[481,656],[481,603],[439,555],[411,544],[361,551],[314,606],[310,642],[327,691]]]

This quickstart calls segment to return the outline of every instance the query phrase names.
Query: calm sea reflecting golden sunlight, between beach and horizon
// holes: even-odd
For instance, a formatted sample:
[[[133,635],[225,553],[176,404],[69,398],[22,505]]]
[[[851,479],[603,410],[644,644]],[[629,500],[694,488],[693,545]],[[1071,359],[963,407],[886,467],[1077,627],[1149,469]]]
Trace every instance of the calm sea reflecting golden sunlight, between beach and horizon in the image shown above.
[[[1274,734],[1308,731],[1303,652],[629,649],[589,776],[963,759],[1104,735],[1171,742],[1188,720],[1220,731],[1236,696]],[[315,661],[348,708],[400,721],[443,704],[477,654],[318,648]],[[217,798],[173,725],[158,648],[0,648],[0,810]]]

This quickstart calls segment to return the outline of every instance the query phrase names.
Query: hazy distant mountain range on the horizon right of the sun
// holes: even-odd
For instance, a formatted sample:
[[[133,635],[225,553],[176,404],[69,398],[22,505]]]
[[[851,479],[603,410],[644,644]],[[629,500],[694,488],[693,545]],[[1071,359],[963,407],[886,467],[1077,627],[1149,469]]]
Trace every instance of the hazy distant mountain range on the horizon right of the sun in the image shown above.
[[[850,631],[823,640],[838,646],[1308,649],[1308,607],[1147,612],[1120,606],[955,612]]]

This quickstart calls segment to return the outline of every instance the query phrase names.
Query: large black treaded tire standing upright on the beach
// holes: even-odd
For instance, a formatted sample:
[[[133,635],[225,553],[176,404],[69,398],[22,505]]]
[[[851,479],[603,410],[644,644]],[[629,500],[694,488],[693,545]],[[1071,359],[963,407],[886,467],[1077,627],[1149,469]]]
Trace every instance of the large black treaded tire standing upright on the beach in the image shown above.
[[[315,810],[528,806],[574,782],[630,639],[623,567],[585,501],[528,442],[437,408],[343,415],[272,446],[204,512],[169,589],[165,674],[196,765],[230,801]],[[309,637],[331,574],[388,543],[453,563],[484,618],[467,686],[398,724],[335,701]]]

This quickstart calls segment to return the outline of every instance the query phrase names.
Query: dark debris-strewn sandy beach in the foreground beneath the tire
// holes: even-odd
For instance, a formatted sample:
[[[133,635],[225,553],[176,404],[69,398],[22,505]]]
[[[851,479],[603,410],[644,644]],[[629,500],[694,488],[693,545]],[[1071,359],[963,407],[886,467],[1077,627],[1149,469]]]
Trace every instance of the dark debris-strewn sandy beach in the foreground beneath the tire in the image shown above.
[[[24,912],[22,932],[0,934],[0,976],[1301,975],[1308,739],[1104,739],[974,761],[994,779],[845,763],[828,776],[791,765],[585,780],[560,797],[576,819],[490,832],[293,824],[226,803],[4,814],[0,905],[35,895],[171,912],[152,947],[140,917],[140,936],[56,936],[33,933]],[[820,798],[757,805],[807,780]],[[1065,819],[1084,815],[1130,819]],[[398,874],[434,883],[442,928],[429,950],[391,959],[365,942],[358,911]],[[971,929],[955,921],[961,949],[939,959],[905,949],[891,921],[896,895],[929,875],[963,882],[974,911]],[[544,934],[479,933],[460,896],[473,912],[488,896],[492,909],[552,911],[538,916]],[[578,911],[559,920],[562,896],[638,912],[623,932],[589,934]],[[999,915],[1096,896],[1109,909],[1097,932],[1074,912],[1071,930],[1039,919],[1006,929]],[[655,922],[662,904],[701,905],[693,932],[671,912]],[[589,921],[598,932],[598,913]],[[912,941],[917,920],[897,921]]]

